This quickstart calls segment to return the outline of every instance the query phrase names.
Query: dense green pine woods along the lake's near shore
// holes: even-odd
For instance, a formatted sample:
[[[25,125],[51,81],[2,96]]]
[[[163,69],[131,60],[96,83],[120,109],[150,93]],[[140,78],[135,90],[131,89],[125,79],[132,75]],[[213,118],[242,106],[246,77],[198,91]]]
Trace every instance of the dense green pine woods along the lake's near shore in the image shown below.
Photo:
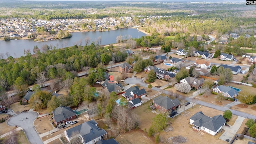
[[[70,78],[72,71],[96,67],[101,62],[108,64],[110,60],[122,62],[127,57],[125,52],[108,50],[95,45],[94,42],[84,47],[75,45],[65,49],[46,45],[40,50],[35,46],[33,51],[35,55],[28,52],[26,56],[17,59],[9,56],[6,60],[0,60],[0,84],[5,90],[10,90],[19,79],[32,85],[42,72],[45,72],[44,76],[49,79]]]

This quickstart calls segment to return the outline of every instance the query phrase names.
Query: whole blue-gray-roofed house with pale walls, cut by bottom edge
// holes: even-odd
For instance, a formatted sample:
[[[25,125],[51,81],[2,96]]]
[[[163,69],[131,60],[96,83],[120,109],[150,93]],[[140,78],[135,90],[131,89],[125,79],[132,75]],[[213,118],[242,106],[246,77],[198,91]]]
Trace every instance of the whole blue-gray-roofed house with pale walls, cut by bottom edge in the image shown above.
[[[70,140],[79,137],[82,144],[95,144],[99,140],[107,138],[107,132],[97,126],[95,120],[84,122],[78,126],[65,130],[64,134]]]

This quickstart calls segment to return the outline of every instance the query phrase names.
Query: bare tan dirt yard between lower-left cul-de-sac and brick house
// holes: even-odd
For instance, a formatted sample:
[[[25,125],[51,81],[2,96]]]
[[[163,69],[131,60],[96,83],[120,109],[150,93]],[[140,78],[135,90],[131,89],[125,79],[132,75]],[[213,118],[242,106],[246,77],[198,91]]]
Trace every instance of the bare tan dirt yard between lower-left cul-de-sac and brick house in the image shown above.
[[[38,133],[48,132],[53,129],[51,115],[38,118],[34,121],[36,131]]]

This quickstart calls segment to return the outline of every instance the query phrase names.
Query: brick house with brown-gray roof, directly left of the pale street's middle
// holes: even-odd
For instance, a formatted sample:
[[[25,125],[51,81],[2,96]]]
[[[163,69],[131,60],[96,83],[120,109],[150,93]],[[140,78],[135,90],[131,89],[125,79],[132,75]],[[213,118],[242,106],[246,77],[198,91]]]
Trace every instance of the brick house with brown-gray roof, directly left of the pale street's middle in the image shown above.
[[[158,96],[153,99],[156,109],[162,112],[168,112],[169,110],[175,110],[177,106],[180,106],[178,98],[172,100],[168,96]]]

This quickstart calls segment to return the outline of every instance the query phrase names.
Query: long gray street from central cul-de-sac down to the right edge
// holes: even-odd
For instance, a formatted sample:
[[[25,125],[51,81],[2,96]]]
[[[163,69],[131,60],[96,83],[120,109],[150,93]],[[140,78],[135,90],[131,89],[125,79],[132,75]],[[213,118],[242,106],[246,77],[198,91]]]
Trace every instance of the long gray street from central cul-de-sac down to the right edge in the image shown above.
[[[127,78],[126,80],[124,80],[125,83],[127,84],[140,84],[141,86],[144,86],[144,87],[148,87],[148,84],[145,84],[142,79],[140,78]],[[152,90],[156,90],[156,91],[160,91],[164,94],[171,94],[170,92],[166,91],[166,90],[162,90],[160,88],[156,88],[156,87],[152,87]],[[186,100],[191,102],[191,98],[189,97],[186,97]],[[202,106],[207,106],[209,108],[214,108],[216,110],[220,110],[220,111],[225,111],[225,110],[228,110],[229,108],[225,108],[225,107],[222,107],[222,106],[217,106],[217,105],[214,105],[214,104],[210,104],[210,103],[207,103],[207,102],[203,102],[201,100],[197,100],[196,103],[202,105]],[[256,116],[255,115],[252,115],[252,114],[247,114],[247,113],[244,113],[244,112],[240,112],[240,111],[237,111],[237,110],[232,110],[232,109],[229,109],[232,114],[234,115],[237,115],[237,116],[241,116],[241,117],[244,117],[244,118],[252,118],[252,119],[256,119]]]

